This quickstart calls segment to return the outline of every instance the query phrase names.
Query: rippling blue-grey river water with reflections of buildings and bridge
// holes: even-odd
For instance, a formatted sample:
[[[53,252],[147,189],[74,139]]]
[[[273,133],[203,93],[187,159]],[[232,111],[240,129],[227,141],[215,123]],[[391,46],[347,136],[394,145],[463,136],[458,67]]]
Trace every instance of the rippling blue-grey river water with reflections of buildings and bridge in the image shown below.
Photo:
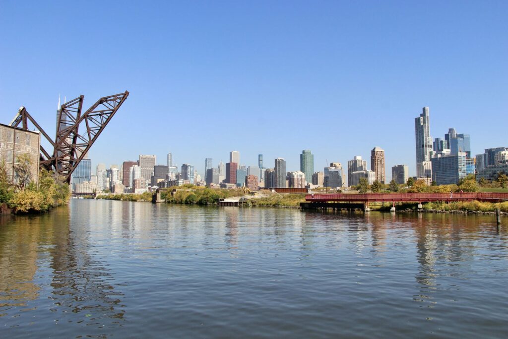
[[[508,335],[508,217],[72,200],[0,222],[0,337]]]

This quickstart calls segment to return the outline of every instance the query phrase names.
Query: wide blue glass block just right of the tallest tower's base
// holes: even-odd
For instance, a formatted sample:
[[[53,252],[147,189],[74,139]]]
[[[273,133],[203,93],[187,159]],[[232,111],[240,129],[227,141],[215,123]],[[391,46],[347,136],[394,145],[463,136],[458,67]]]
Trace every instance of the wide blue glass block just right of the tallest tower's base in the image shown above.
[[[438,185],[457,184],[460,179],[467,175],[465,152],[448,156],[436,155],[431,159],[431,163],[432,181],[435,181]]]

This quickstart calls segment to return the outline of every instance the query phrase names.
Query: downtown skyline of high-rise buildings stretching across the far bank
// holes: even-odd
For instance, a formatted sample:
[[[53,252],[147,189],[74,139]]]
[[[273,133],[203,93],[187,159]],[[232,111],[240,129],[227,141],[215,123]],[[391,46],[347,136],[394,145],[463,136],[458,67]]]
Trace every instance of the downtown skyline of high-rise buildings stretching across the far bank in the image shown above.
[[[450,128],[443,138],[432,139],[430,134],[429,108],[415,118],[416,176],[427,184],[458,183],[468,174],[477,179],[493,180],[499,172],[508,173],[508,147],[485,149],[483,154],[471,156],[469,134],[459,134]],[[270,161],[270,163],[272,163]],[[229,153],[229,162],[220,161],[216,167],[212,158],[205,159],[202,178],[193,165],[184,163],[176,166],[171,152],[165,165],[157,165],[154,155],[139,155],[138,160],[124,161],[120,166],[98,164],[96,173],[91,173],[91,160],[83,159],[72,175],[75,193],[92,193],[109,190],[114,193],[143,193],[152,188],[196,184],[212,188],[247,187],[260,188],[315,188],[343,189],[357,186],[362,178],[369,184],[386,182],[385,150],[375,146],[370,153],[370,166],[362,156],[347,161],[343,169],[339,162],[332,162],[323,171],[314,172],[314,155],[309,149],[300,154],[300,170],[287,171],[283,158],[273,160],[273,167],[265,166],[263,155],[258,155],[256,165],[240,162],[240,152]],[[347,173],[344,173],[347,171]],[[409,178],[408,166],[392,167],[392,180],[404,184]]]

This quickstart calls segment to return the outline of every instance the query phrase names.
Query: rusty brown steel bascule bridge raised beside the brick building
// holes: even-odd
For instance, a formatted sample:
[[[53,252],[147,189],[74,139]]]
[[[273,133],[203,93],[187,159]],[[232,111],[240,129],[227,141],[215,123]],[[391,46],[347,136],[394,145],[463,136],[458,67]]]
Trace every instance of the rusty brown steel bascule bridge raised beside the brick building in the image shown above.
[[[93,104],[85,113],[81,114],[84,96],[79,96],[60,106],[58,120],[56,122],[56,136],[50,138],[39,126],[37,121],[21,106],[18,113],[11,121],[12,127],[20,127],[28,130],[28,121],[41,132],[53,147],[48,152],[40,146],[41,168],[53,170],[63,182],[71,181],[72,172],[86,156],[86,153],[104,131],[116,111],[129,96],[129,91],[103,97]],[[85,129],[83,133],[80,132]]]

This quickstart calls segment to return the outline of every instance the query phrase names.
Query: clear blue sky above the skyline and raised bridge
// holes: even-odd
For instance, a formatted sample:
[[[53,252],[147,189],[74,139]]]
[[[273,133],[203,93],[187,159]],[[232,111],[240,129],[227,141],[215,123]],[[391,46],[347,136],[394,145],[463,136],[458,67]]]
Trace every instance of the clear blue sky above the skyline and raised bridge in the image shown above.
[[[51,135],[58,94],[131,95],[93,164],[155,154],[273,159],[314,171],[370,150],[416,174],[414,118],[431,135],[508,146],[508,2],[42,2],[0,0],[0,112],[23,105]]]

